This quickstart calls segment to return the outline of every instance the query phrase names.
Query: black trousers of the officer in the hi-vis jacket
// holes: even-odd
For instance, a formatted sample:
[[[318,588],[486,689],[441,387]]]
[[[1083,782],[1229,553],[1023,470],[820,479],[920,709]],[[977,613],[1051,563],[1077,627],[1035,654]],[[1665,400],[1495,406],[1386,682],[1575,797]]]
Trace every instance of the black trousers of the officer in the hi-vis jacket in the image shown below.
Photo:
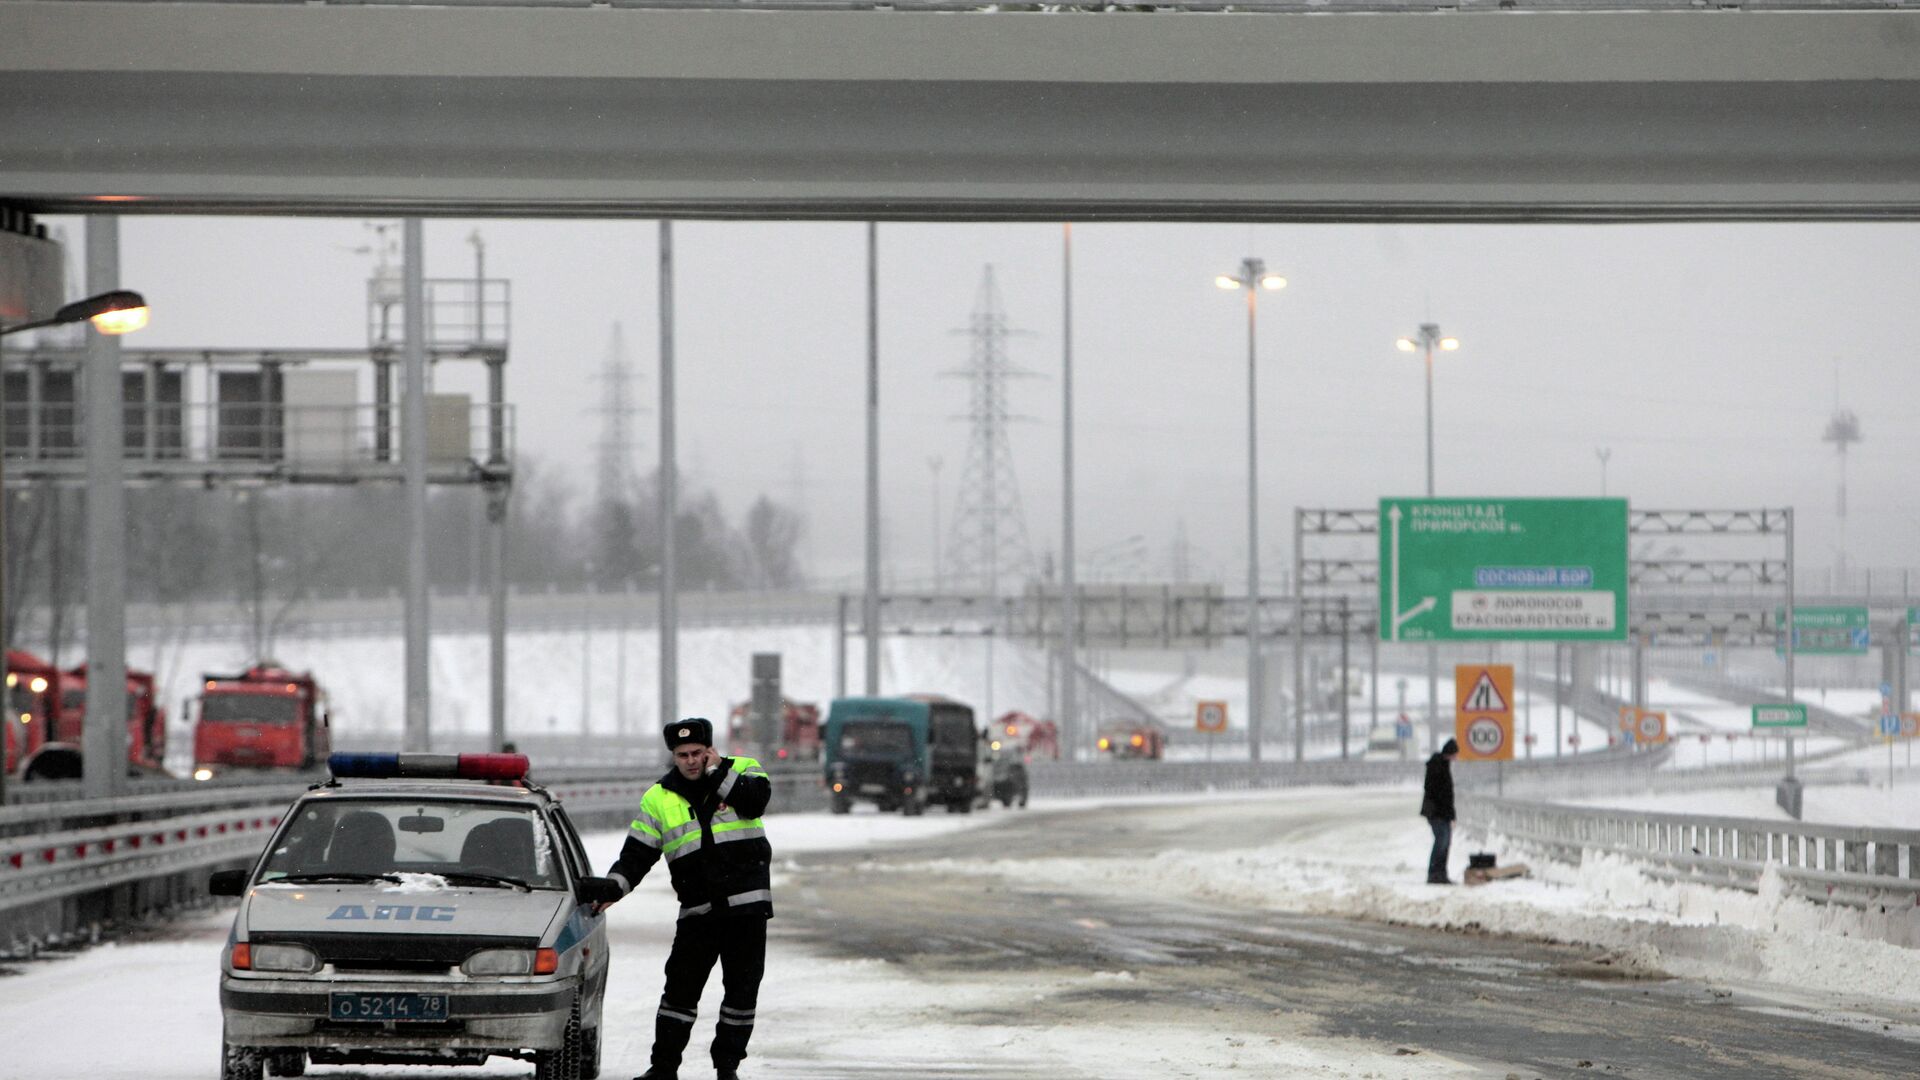
[[[714,1067],[732,1068],[747,1057],[753,1038],[753,1007],[760,999],[766,970],[766,917],[695,915],[682,919],[674,949],[666,953],[666,992],[653,1020],[655,1068],[680,1068],[680,1055],[693,1036],[701,992],[720,961],[720,1024],[714,1030]]]

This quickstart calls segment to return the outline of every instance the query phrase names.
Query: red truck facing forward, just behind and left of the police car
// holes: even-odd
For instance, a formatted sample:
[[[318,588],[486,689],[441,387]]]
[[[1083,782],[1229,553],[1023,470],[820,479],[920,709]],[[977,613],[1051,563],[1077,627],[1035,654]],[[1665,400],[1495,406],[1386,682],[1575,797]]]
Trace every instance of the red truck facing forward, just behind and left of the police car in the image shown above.
[[[326,694],[313,675],[267,661],[202,676],[196,780],[232,769],[313,769],[330,748]]]

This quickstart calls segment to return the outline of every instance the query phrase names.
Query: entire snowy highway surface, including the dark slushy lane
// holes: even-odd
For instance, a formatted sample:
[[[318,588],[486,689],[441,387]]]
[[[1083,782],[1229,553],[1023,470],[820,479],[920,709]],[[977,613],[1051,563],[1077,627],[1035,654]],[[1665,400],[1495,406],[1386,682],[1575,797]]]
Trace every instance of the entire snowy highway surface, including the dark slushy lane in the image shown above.
[[[1294,790],[774,817],[780,919],[743,1074],[1841,1078],[1920,1057],[1914,953],[1847,917],[1605,861],[1425,886],[1415,805]],[[595,863],[618,842],[593,836]],[[607,1076],[645,1067],[672,915],[664,876],[614,909]],[[0,1080],[215,1076],[225,932],[207,913],[12,965]],[[716,1013],[718,978],[695,1045]]]

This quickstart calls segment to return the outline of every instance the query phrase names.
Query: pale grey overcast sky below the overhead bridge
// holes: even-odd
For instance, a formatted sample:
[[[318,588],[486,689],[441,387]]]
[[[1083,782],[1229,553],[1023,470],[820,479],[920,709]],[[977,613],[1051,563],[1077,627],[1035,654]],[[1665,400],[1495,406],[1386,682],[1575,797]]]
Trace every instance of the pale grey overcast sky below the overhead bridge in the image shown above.
[[[77,219],[69,250],[83,248]],[[428,277],[513,282],[509,398],[518,452],[593,480],[595,380],[624,327],[639,469],[657,461],[657,225],[428,221]],[[1029,417],[1012,436],[1037,552],[1060,538],[1060,227],[881,225],[881,438],[891,569],[925,577],[929,457],[943,521],[968,448],[952,419],[964,327],[995,267]],[[397,234],[397,231],[396,231]],[[858,573],[866,240],[856,223],[680,223],[682,465],[732,513],[803,502],[820,577]],[[359,219],[129,217],[123,282],[154,306],[129,348],[365,344],[374,238]],[[1246,555],[1246,323],[1212,284],[1256,254],[1290,281],[1260,307],[1261,557],[1290,559],[1294,505],[1363,507],[1423,486],[1423,379],[1394,338],[1438,321],[1438,492],[1599,494],[1636,507],[1799,509],[1799,565],[1837,555],[1836,405],[1855,565],[1920,565],[1920,225],[1079,225],[1077,484],[1083,557],[1144,536],[1167,573],[1175,528],[1198,571]],[[73,288],[81,277],[73,275]],[[449,386],[451,388],[451,386]],[[438,538],[436,538],[438,540]],[[945,546],[945,540],[943,540]]]

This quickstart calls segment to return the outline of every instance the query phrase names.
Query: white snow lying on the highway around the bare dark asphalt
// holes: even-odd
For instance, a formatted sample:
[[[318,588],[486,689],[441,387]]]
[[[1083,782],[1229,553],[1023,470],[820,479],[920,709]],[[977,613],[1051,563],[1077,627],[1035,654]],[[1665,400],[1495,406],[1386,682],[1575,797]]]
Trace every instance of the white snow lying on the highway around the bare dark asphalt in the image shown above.
[[[1219,803],[1219,796],[1160,799],[1177,815],[1183,803]],[[1012,888],[1112,892],[1160,903],[1200,903],[1225,911],[1290,911],[1411,922],[1471,932],[1517,934],[1584,944],[1607,951],[1628,972],[1670,972],[1741,986],[1782,1001],[1920,1005],[1914,951],[1882,944],[1887,926],[1851,911],[1816,907],[1763,890],[1759,896],[1705,886],[1651,882],[1632,867],[1599,859],[1584,867],[1536,865],[1528,880],[1484,888],[1421,884],[1427,830],[1413,809],[1417,792],[1294,790],[1248,796],[1248,815],[1284,821],[1308,811],[1325,817],[1329,803],[1352,809],[1329,828],[1302,830],[1290,842],[1235,851],[1177,849],[1150,859],[900,859],[902,874],[993,874]],[[1033,815],[1100,805],[1035,803]],[[1139,805],[1137,801],[1131,805]],[[989,826],[996,815],[924,817],[856,813],[783,815],[772,822],[776,905],[806,903],[793,872],[808,855],[866,849],[889,859],[902,840]],[[618,832],[589,836],[597,865],[618,849]],[[1455,844],[1453,874],[1475,844]],[[1496,842],[1498,849],[1498,842]],[[670,942],[674,901],[666,874],[651,874],[612,913],[616,959],[605,1028],[607,1076],[645,1067],[659,969]],[[1891,919],[1920,919],[1912,913]],[[111,944],[21,963],[0,978],[0,1078],[186,1080],[215,1076],[219,1005],[217,955],[230,915],[180,920],[161,940]],[[1908,930],[1914,926],[1908,924]],[[1217,1076],[1342,1076],[1380,1080],[1480,1076],[1444,1055],[1405,1059],[1392,1045],[1325,1038],[1302,1030],[1286,1038],[1233,1040],[1204,1026],[1048,1026],[962,1022],[960,1013],[1039,1001],[1052,994],[1125,984],[1129,970],[1092,972],[1064,984],[1060,976],[983,974],[970,982],[927,982],[885,961],[841,961],[812,955],[778,934],[760,997],[760,1030],[747,1074],[756,1080],[824,1076],[906,1076],[908,1063],[952,1061],[977,1076],[1098,1076],[1112,1080]],[[718,978],[701,1015],[718,1011]],[[1870,997],[1862,999],[1862,994]],[[58,1019],[58,1022],[50,1022]],[[75,1038],[75,1032],[94,1032]],[[109,1032],[109,1034],[106,1034]],[[705,1026],[695,1045],[703,1045]],[[1411,1038],[1411,1036],[1409,1036]],[[858,1063],[858,1068],[852,1065]],[[899,1063],[900,1072],[889,1072]],[[530,1067],[355,1068],[376,1076],[524,1076]],[[342,1074],[315,1068],[315,1076]],[[689,1074],[699,1076],[701,1070]],[[952,1072],[960,1076],[962,1072]],[[947,1072],[943,1072],[947,1076]]]

